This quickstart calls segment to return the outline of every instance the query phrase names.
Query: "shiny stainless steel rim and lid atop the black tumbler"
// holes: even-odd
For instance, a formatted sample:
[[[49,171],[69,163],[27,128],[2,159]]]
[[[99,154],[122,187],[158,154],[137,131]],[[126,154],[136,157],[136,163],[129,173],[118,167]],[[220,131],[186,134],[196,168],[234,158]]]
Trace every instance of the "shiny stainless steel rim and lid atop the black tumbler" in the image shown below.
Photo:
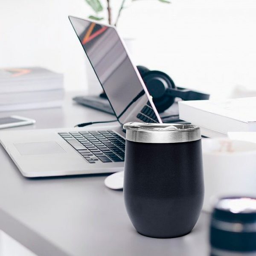
[[[128,122],[123,128],[126,140],[141,143],[178,143],[201,139],[200,128],[195,125]]]

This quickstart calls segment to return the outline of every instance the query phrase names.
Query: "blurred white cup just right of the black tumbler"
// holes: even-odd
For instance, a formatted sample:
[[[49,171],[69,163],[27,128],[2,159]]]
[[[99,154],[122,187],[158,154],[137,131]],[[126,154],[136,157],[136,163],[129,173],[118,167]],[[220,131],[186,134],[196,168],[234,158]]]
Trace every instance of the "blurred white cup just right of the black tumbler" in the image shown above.
[[[211,211],[218,197],[256,196],[256,143],[204,139],[202,148],[205,211]]]

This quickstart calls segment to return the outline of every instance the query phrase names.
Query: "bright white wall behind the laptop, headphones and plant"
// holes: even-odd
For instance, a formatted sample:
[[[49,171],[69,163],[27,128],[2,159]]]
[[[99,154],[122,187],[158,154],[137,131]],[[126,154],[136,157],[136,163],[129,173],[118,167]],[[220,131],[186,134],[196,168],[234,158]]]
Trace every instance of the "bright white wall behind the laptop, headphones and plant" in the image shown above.
[[[120,3],[112,0],[113,11]],[[137,0],[128,6],[119,31],[135,39],[136,64],[214,97],[229,96],[236,85],[256,90],[255,0]],[[1,0],[0,67],[47,67],[65,74],[67,90],[85,89],[86,57],[67,15],[90,14],[84,0]]]

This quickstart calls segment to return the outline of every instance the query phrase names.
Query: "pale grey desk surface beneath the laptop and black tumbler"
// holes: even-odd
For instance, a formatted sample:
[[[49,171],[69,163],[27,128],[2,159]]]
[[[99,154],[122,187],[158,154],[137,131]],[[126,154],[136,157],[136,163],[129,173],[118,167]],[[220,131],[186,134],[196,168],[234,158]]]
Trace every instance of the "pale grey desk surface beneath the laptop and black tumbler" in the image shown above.
[[[36,120],[11,128],[73,127],[79,122],[113,119],[112,115],[73,104],[68,93],[63,108],[0,112]],[[106,175],[24,178],[0,146],[0,229],[38,256],[206,256],[209,215],[192,233],[176,239],[152,239],[134,230],[122,191],[104,186]]]

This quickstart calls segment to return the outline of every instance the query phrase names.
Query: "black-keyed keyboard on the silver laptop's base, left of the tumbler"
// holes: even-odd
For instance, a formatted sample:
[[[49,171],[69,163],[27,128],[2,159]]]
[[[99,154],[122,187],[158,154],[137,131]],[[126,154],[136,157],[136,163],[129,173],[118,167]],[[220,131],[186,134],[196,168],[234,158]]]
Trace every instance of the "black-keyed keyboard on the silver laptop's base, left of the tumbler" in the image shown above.
[[[114,131],[59,132],[88,163],[123,162],[125,139]]]

